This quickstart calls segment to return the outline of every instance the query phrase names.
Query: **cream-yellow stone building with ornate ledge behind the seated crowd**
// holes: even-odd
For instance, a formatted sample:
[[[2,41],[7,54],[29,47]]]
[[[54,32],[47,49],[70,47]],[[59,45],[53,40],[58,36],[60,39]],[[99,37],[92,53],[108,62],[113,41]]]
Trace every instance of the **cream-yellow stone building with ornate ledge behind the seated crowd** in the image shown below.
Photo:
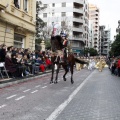
[[[0,0],[0,44],[35,49],[36,0]]]

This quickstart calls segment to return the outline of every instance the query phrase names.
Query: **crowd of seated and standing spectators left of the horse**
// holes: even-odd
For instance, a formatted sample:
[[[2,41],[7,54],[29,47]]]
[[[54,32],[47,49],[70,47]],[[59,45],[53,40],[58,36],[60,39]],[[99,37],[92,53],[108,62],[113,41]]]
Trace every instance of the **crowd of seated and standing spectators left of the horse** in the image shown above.
[[[0,63],[4,63],[10,77],[35,75],[51,69],[48,51],[32,51],[30,48],[7,47],[0,45]]]

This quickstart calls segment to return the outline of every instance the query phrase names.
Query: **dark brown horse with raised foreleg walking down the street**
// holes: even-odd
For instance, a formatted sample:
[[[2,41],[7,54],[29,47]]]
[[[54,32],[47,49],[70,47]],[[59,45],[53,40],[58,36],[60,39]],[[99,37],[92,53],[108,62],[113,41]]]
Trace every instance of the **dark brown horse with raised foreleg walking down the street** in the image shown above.
[[[63,75],[63,80],[66,81],[66,74],[68,73],[69,69],[71,71],[71,84],[74,83],[73,80],[73,69],[74,69],[74,65],[75,62],[80,63],[80,64],[87,64],[87,62],[85,61],[81,61],[79,59],[77,59],[76,57],[74,57],[73,53],[68,53],[67,55],[67,63],[64,61],[62,63],[60,63],[60,56],[57,56],[56,51],[58,50],[62,50],[64,48],[64,46],[62,45],[62,37],[60,35],[56,35],[56,36],[52,36],[51,37],[51,63],[52,63],[52,75],[51,75],[51,80],[50,83],[58,83],[58,73],[59,73],[59,69],[60,66],[63,67],[63,69],[65,70],[65,73]],[[55,77],[55,81],[53,81],[53,77],[54,77],[54,71],[55,71],[55,64],[57,66],[56,69],[56,77]],[[69,69],[68,69],[69,66]]]

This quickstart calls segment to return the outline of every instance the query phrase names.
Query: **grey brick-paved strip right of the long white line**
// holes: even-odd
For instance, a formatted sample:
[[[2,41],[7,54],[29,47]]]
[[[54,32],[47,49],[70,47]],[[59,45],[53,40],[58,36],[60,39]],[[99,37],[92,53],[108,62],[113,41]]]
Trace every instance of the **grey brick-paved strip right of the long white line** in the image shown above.
[[[93,71],[57,120],[120,120],[120,77]]]

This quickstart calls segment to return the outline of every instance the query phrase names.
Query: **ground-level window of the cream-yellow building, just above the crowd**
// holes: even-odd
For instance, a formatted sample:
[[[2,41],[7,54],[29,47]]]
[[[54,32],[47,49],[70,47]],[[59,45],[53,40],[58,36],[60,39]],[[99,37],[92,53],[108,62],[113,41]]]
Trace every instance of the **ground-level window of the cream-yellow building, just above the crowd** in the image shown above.
[[[14,47],[23,48],[24,47],[23,39],[24,39],[24,36],[15,34],[14,35]]]

